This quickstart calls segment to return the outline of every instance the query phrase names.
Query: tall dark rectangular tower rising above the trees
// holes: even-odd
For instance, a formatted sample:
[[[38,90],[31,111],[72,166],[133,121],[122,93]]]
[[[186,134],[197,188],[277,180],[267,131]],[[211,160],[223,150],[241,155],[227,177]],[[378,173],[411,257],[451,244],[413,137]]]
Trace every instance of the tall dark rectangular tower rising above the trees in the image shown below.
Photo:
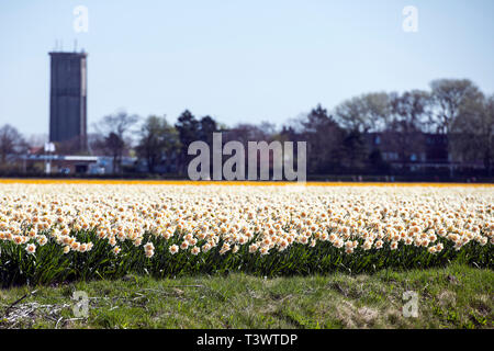
[[[49,141],[70,141],[86,150],[86,53],[49,53]]]

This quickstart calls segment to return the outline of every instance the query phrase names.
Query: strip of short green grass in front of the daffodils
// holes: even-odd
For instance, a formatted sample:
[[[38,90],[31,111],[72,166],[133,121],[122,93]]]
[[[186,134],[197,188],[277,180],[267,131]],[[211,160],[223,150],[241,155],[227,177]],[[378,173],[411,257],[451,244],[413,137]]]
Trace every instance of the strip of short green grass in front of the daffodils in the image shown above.
[[[493,328],[493,287],[492,270],[460,264],[274,279],[127,275],[0,290],[0,328]],[[74,315],[76,291],[89,296],[87,317]],[[405,291],[418,294],[417,318],[402,314]]]

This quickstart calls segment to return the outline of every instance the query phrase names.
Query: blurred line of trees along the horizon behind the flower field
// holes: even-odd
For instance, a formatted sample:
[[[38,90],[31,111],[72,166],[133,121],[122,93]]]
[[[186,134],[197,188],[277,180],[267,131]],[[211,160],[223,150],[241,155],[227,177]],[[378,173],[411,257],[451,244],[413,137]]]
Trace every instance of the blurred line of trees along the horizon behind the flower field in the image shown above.
[[[485,95],[468,79],[438,79],[429,90],[371,92],[353,97],[328,111],[321,104],[288,120],[281,127],[270,122],[226,126],[210,115],[197,117],[186,110],[175,124],[167,116],[145,118],[119,112],[102,117],[89,135],[89,152],[113,158],[113,172],[125,171],[122,159],[136,156],[149,173],[187,174],[195,140],[211,145],[214,132],[224,141],[307,141],[307,173],[411,172],[409,166],[424,154],[427,135],[440,136],[448,161],[481,162],[492,176],[494,95]],[[380,143],[370,143],[379,137]],[[77,152],[69,144],[59,151]],[[29,144],[10,125],[0,128],[0,159],[25,152]],[[65,149],[64,149],[65,148]],[[392,155],[397,169],[391,170]],[[470,163],[469,163],[470,162]]]

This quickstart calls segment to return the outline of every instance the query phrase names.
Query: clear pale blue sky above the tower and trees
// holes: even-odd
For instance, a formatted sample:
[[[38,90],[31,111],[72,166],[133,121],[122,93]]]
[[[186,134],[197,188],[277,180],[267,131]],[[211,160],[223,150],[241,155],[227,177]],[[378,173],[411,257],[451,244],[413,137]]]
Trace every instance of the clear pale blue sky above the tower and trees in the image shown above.
[[[72,29],[75,7],[89,32]],[[418,32],[402,30],[405,5]],[[494,92],[492,0],[15,0],[0,4],[0,125],[48,132],[55,41],[89,53],[88,122],[189,109],[220,122],[284,121],[370,91],[469,78]]]

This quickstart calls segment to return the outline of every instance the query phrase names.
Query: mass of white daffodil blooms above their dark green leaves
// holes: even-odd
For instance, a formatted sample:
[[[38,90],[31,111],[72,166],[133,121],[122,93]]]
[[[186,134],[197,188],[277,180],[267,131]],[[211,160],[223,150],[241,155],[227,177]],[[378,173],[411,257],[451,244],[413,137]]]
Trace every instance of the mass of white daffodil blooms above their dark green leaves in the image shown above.
[[[177,241],[172,254],[194,256],[243,246],[269,254],[295,242],[328,241],[347,254],[359,246],[437,253],[442,242],[494,244],[491,188],[1,184],[0,194],[0,246],[31,254],[50,239],[64,253],[89,252],[94,242],[82,242],[81,230],[94,230],[115,256],[130,240],[147,258],[155,246],[146,233]]]

